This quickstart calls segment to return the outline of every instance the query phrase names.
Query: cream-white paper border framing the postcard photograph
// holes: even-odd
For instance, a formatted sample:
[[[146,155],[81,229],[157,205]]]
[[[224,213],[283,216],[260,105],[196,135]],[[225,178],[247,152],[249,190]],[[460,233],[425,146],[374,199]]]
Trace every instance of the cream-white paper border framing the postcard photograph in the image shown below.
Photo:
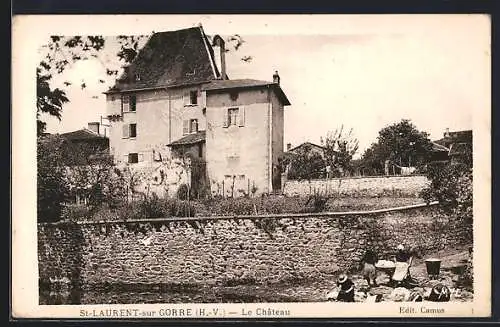
[[[407,24],[435,23],[434,15],[391,15],[391,22],[378,21],[375,29],[389,29],[398,21]],[[305,23],[294,24],[300,17]],[[331,29],[335,18],[339,33],[349,32],[347,21],[352,16],[332,15],[46,15],[15,16],[12,23],[12,315],[23,318],[84,318],[81,310],[137,309],[157,312],[166,308],[219,309],[224,314],[214,314],[213,318],[267,318],[280,316],[252,316],[243,311],[258,308],[289,310],[283,318],[316,317],[487,317],[491,314],[491,108],[474,112],[474,301],[472,303],[376,303],[343,304],[320,303],[267,303],[267,304],[158,304],[158,305],[39,305],[37,269],[37,226],[36,226],[36,120],[35,120],[35,69],[36,51],[48,36],[81,34],[139,34],[152,30],[162,30],[162,20],[168,19],[178,28],[202,22],[204,26],[217,21],[234,27],[244,34],[317,34]],[[377,15],[365,16],[366,24]],[[442,15],[440,28],[445,28],[447,19],[473,19],[477,28],[490,33],[490,19],[487,15]],[[467,46],[467,45],[464,45]],[[490,52],[485,53],[490,56]],[[491,64],[485,62],[489,80],[484,96],[491,98]],[[491,105],[491,103],[490,103]],[[413,314],[402,314],[400,307],[413,307]],[[443,308],[444,313],[424,314],[421,307]],[[90,311],[89,311],[90,310]],[[100,312],[100,311],[98,311]],[[232,314],[234,313],[234,314]],[[201,316],[191,316],[196,318]],[[89,317],[86,318],[98,318]],[[120,317],[113,317],[120,318]],[[121,317],[134,318],[134,317]],[[141,318],[141,317],[138,317]],[[150,317],[148,317],[150,318]],[[170,317],[180,318],[180,317]]]

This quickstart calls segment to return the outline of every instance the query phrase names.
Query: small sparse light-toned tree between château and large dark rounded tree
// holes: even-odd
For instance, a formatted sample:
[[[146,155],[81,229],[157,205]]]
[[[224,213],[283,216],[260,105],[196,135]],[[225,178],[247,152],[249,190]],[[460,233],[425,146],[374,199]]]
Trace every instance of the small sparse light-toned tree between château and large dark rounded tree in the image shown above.
[[[334,176],[345,176],[352,170],[352,157],[359,148],[359,141],[353,135],[351,128],[344,134],[344,125],[334,132],[328,132],[321,145],[325,148],[325,161]]]

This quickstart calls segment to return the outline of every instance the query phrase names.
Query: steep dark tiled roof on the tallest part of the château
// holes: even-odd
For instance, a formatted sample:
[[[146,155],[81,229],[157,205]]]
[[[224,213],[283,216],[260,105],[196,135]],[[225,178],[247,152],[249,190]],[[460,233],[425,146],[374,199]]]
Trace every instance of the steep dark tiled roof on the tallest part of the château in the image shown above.
[[[219,77],[203,28],[154,33],[117,83],[105,93],[197,84]],[[138,76],[139,78],[136,78]]]

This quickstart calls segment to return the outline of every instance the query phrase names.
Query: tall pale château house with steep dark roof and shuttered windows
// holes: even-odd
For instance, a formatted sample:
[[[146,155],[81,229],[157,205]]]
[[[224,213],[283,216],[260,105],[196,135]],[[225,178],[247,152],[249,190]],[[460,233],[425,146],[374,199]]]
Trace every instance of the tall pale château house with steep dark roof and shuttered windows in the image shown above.
[[[158,192],[200,178],[214,195],[280,188],[283,109],[290,104],[280,77],[229,80],[225,52],[224,40],[210,40],[201,26],[151,36],[106,92],[116,164],[161,175],[161,183],[153,177]],[[204,176],[191,174],[193,162]]]

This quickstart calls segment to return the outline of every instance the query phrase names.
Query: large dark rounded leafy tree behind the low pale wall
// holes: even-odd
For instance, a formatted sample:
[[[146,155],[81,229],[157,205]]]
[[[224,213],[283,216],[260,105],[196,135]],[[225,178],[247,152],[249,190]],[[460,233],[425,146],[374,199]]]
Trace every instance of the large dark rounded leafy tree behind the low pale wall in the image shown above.
[[[428,163],[432,151],[429,134],[419,131],[410,120],[384,127],[377,142],[363,154],[365,166],[380,171],[386,160],[399,167],[422,167]]]

